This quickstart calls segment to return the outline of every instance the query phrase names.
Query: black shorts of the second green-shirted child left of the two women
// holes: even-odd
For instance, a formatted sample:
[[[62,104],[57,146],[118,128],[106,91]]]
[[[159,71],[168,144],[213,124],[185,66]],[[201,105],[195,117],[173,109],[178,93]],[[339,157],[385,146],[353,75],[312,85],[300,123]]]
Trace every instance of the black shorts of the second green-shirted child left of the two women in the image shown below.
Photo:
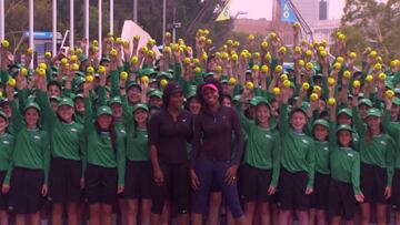
[[[88,164],[84,174],[84,188],[89,205],[114,204],[118,188],[117,168]]]

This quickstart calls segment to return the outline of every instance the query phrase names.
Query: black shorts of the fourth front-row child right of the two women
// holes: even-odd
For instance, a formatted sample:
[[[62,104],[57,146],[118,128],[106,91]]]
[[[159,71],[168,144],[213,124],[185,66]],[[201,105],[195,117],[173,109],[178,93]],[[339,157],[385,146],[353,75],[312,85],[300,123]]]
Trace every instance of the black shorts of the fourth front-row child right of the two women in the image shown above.
[[[352,185],[331,180],[328,195],[328,213],[330,217],[342,216],[347,221],[354,218],[357,201]]]

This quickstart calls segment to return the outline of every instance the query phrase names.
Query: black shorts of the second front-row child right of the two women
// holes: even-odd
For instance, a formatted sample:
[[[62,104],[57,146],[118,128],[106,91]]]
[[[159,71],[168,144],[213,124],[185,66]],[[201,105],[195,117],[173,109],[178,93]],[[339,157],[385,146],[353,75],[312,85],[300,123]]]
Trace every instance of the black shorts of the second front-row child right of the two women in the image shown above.
[[[280,171],[278,184],[278,206],[284,211],[308,211],[310,196],[306,195],[307,172],[290,173],[283,167]]]

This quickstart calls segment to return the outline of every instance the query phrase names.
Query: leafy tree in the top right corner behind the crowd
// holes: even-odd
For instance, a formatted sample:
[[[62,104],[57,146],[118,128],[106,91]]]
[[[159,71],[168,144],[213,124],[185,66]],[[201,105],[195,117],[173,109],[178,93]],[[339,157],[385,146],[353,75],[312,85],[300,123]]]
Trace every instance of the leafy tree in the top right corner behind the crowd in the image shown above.
[[[348,49],[362,52],[371,47],[386,61],[400,57],[400,1],[347,0],[340,30]]]

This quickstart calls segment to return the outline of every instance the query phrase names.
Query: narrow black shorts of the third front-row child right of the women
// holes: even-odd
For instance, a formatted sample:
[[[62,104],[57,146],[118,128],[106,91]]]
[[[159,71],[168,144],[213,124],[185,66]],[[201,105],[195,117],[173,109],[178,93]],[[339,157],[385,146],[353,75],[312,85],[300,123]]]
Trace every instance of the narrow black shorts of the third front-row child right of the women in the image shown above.
[[[316,172],[313,192],[310,196],[310,206],[316,209],[328,209],[330,176]]]

